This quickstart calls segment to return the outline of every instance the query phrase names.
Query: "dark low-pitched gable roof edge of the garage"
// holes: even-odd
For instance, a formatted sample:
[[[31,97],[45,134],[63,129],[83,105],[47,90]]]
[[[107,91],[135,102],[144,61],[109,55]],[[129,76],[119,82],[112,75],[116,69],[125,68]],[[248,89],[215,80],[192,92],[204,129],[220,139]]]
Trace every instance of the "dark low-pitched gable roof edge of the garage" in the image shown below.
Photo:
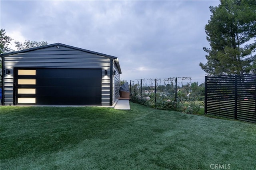
[[[25,52],[34,51],[34,50],[37,50],[37,49],[44,49],[44,48],[48,48],[48,47],[54,47],[54,46],[58,46],[58,45],[59,46],[63,46],[63,47],[68,47],[68,48],[71,48],[71,49],[76,49],[76,50],[84,51],[84,52],[87,52],[87,53],[101,55],[101,56],[113,59],[114,62],[116,63],[116,66],[118,68],[119,73],[120,74],[122,73],[117,57],[112,56],[112,55],[103,54],[103,53],[98,53],[98,52],[95,52],[95,51],[90,51],[90,50],[87,50],[87,49],[73,47],[73,46],[70,46],[70,45],[62,44],[62,43],[53,43],[53,44],[44,45],[44,46],[40,46],[40,47],[34,47],[34,48],[24,49],[24,50],[20,50],[20,51],[14,51],[14,52],[11,52],[11,53],[4,53],[4,54],[1,54],[1,57],[6,57],[8,55],[17,54],[17,53],[25,53]]]

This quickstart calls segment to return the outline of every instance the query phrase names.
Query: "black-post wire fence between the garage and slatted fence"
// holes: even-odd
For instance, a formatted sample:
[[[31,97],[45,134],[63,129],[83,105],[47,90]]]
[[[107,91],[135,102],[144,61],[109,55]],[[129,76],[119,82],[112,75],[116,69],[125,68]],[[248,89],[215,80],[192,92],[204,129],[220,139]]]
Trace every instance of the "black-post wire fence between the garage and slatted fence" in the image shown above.
[[[165,101],[174,103],[204,101],[204,94],[202,95],[204,90],[200,91],[200,88],[204,88],[204,83],[202,83],[203,86],[198,86],[198,82],[194,82],[198,86],[198,91],[196,91],[194,88],[196,86],[193,85],[192,88],[191,81],[191,77],[130,80],[130,101],[135,99],[135,103],[145,103],[146,105],[161,105]]]

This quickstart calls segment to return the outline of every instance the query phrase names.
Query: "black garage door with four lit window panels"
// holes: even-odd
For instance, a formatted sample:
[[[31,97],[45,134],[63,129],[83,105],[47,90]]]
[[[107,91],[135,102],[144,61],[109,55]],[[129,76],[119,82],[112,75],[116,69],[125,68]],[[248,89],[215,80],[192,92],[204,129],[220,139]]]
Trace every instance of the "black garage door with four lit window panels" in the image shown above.
[[[15,105],[101,105],[101,69],[15,68]]]

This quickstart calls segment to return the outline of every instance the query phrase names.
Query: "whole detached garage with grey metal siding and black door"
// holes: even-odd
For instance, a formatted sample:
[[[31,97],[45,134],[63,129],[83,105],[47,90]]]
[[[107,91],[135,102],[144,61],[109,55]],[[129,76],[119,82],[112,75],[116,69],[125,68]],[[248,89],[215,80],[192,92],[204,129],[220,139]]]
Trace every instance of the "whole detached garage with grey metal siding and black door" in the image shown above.
[[[117,57],[55,43],[1,54],[2,105],[112,106]]]

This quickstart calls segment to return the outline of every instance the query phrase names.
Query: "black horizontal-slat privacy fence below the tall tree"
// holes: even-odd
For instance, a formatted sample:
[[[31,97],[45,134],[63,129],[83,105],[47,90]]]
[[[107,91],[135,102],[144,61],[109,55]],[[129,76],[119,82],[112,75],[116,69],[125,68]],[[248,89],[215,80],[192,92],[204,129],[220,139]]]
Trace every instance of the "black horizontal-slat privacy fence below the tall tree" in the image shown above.
[[[205,77],[205,114],[256,123],[256,74]]]

